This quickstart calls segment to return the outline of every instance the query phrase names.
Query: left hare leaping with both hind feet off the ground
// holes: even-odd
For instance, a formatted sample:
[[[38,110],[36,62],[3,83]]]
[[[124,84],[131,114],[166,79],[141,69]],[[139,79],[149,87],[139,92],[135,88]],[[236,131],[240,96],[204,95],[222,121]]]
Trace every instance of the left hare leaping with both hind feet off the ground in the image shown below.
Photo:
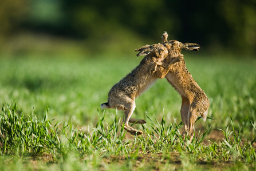
[[[131,118],[135,110],[135,98],[155,83],[157,78],[164,78],[171,65],[182,60],[183,55],[177,55],[175,58],[170,57],[167,48],[160,43],[151,46],[145,45],[136,49],[136,51],[140,51],[137,56],[145,55],[145,57],[141,60],[139,66],[111,88],[108,93],[108,102],[101,104],[101,108],[124,110],[124,129],[132,135],[137,134],[139,136],[143,132],[128,125],[128,122],[146,123],[144,120]],[[164,62],[165,59],[168,63]]]

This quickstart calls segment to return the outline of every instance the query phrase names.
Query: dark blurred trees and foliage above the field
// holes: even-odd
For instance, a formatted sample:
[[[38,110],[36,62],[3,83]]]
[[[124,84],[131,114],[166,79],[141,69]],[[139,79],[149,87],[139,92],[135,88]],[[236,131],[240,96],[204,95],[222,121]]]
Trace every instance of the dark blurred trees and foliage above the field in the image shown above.
[[[255,54],[255,18],[254,0],[9,0],[0,4],[0,43],[17,53],[77,47],[81,54],[120,54],[160,42],[167,31],[215,53]]]

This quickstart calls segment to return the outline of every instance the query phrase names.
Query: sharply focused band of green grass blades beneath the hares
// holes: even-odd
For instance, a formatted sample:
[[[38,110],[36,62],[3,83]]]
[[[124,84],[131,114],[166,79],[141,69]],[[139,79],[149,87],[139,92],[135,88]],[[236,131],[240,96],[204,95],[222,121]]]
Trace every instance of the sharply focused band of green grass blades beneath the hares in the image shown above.
[[[48,112],[42,120],[38,120],[35,114],[17,113],[17,106],[4,105],[0,116],[0,144],[2,156],[32,158],[48,158],[44,162],[62,163],[70,167],[70,170],[77,166],[76,162],[84,166],[83,160],[90,158],[90,163],[86,167],[104,168],[106,164],[104,158],[110,158],[117,164],[120,158],[132,161],[134,165],[138,158],[143,158],[150,154],[151,156],[162,154],[159,160],[173,159],[170,155],[175,155],[177,160],[182,163],[183,168],[195,163],[212,162],[243,162],[250,167],[254,166],[256,152],[253,147],[253,141],[242,140],[241,129],[235,130],[233,119],[230,118],[231,130],[229,125],[223,131],[225,138],[219,143],[213,142],[204,145],[203,139],[209,133],[209,130],[196,134],[194,140],[190,143],[182,139],[179,133],[182,124],[167,123],[163,116],[161,121],[153,121],[143,126],[144,135],[134,137],[133,140],[125,138],[125,130],[120,125],[120,119],[117,115],[111,122],[104,121],[99,117],[95,126],[88,127],[87,130],[78,129],[69,122],[52,124],[48,118]],[[251,122],[251,128],[255,129],[255,124]],[[220,129],[221,130],[221,129]],[[110,157],[112,156],[112,157]],[[5,158],[3,158],[5,160]],[[78,161],[80,162],[78,162]],[[88,162],[88,161],[86,161]],[[95,164],[96,163],[96,164]],[[59,167],[59,166],[58,166]],[[79,168],[79,167],[78,167]],[[129,170],[129,169],[128,169]]]

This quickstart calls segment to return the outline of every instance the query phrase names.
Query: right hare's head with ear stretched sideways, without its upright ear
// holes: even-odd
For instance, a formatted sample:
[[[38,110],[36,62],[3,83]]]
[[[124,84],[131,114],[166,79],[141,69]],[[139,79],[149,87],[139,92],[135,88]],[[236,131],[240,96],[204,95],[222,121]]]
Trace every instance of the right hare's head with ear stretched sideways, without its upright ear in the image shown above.
[[[165,43],[168,49],[175,49],[178,51],[182,51],[182,49],[186,50],[193,50],[193,51],[198,51],[200,49],[200,46],[196,43],[182,43],[179,41],[168,41]]]

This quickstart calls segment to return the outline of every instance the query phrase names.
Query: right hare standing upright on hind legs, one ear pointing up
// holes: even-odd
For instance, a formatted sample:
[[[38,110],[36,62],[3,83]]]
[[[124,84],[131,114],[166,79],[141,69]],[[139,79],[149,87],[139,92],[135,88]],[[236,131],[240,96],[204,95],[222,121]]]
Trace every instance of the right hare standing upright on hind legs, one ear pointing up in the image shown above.
[[[167,47],[168,53],[173,57],[180,56],[182,49],[198,51],[200,46],[196,43],[182,43],[179,41],[167,41],[168,34],[164,33],[162,44]],[[166,75],[167,81],[177,90],[182,97],[182,107],[180,114],[184,123],[183,138],[188,135],[190,141],[194,137],[194,123],[198,116],[205,121],[207,118],[209,100],[198,83],[192,78],[188,72],[184,58],[171,65]]]

